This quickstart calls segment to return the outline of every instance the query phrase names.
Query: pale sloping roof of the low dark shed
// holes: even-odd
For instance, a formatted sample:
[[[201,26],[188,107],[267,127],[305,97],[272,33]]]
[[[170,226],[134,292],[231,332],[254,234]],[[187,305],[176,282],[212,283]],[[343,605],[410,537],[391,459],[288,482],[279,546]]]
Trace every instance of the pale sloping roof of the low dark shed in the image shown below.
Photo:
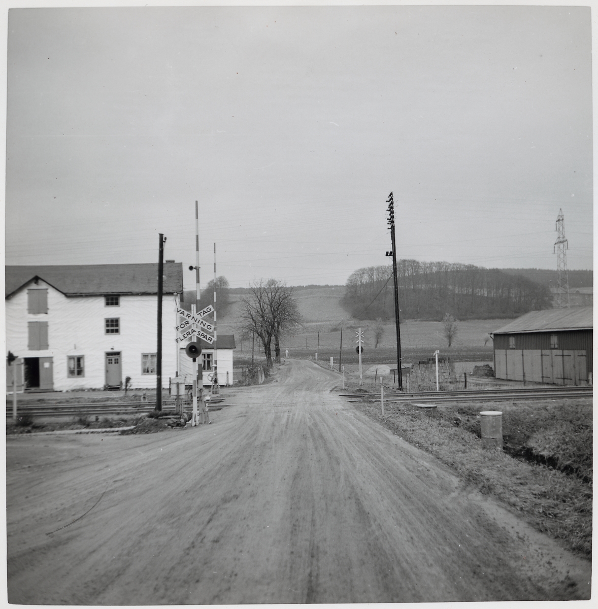
[[[492,334],[517,334],[521,332],[556,332],[567,330],[593,329],[593,308],[591,306],[569,309],[547,309],[530,311]]]

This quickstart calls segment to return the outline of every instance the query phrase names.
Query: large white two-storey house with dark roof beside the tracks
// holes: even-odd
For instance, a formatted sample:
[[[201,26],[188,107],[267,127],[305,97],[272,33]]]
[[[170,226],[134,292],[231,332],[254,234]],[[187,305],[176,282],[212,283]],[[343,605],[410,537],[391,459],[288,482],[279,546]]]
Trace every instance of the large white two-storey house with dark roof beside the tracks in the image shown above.
[[[177,373],[182,264],[165,262],[163,277],[162,379],[168,387]],[[6,348],[19,358],[25,387],[121,387],[127,377],[131,387],[155,387],[157,294],[158,264],[7,266]],[[7,390],[11,384],[7,375]]]

